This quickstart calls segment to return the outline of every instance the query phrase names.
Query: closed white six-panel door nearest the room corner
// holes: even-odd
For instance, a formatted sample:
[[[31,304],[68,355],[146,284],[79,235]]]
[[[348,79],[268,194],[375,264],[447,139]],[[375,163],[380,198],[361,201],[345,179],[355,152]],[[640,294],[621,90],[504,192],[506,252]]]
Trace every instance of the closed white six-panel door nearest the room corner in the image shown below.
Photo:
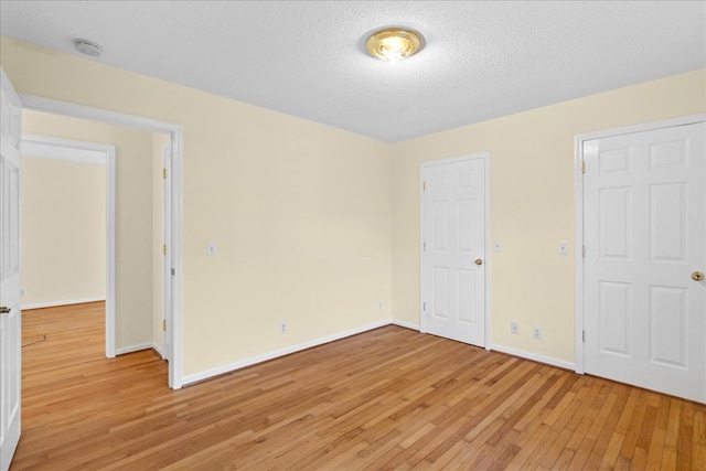
[[[486,156],[421,168],[421,331],[485,346]]]

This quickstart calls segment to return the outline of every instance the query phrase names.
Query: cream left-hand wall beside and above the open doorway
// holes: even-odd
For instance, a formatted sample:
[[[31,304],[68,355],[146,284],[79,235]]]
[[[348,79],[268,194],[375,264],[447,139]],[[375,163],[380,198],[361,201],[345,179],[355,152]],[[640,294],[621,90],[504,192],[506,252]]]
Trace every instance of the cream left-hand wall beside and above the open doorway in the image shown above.
[[[184,375],[391,319],[389,144],[8,38],[0,53],[19,93],[183,127]]]

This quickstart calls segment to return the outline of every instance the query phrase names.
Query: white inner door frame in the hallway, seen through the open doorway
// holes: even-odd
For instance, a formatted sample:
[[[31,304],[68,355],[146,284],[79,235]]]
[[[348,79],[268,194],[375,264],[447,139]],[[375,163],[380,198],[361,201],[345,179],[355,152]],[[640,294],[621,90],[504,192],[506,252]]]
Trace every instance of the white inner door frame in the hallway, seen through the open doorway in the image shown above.
[[[22,156],[86,161],[106,167],[106,357],[115,357],[115,146],[49,136],[22,135]]]

